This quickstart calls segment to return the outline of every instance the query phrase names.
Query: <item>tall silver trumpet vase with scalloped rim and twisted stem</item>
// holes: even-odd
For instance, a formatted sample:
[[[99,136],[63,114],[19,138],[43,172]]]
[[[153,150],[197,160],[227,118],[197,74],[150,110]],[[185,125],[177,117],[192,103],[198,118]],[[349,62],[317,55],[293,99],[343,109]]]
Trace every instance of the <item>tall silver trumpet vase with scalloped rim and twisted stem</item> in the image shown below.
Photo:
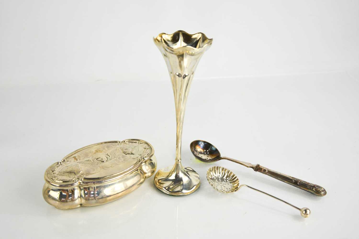
[[[155,175],[154,183],[164,193],[182,196],[196,191],[201,182],[196,171],[182,166],[182,129],[192,78],[199,59],[211,45],[212,39],[208,39],[203,33],[191,35],[184,31],[177,31],[171,35],[159,34],[154,38],[154,42],[162,53],[171,78],[177,123],[176,161],[173,167],[160,169]]]

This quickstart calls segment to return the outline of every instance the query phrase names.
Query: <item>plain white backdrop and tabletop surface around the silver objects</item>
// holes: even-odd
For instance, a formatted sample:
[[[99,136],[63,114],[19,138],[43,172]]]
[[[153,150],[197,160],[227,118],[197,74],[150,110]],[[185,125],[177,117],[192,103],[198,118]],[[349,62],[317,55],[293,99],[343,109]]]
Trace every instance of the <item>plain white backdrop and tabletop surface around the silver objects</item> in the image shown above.
[[[356,238],[359,167],[358,1],[1,1],[0,228],[4,238]],[[68,211],[42,199],[43,173],[85,145],[140,138],[158,168],[175,154],[161,32],[214,38],[196,71],[183,130],[195,193],[172,197],[153,176],[115,202]],[[189,150],[204,139],[223,156],[316,183],[316,197]],[[312,215],[205,179],[224,166]]]

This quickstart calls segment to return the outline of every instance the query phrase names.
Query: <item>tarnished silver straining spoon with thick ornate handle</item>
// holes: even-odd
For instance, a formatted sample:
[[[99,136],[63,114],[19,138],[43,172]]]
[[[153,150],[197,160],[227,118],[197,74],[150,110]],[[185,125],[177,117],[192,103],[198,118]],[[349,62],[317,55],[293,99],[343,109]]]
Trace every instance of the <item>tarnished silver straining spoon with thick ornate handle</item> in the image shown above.
[[[279,173],[274,170],[260,166],[259,164],[251,164],[243,161],[239,161],[233,158],[221,157],[218,149],[214,145],[204,141],[204,140],[195,140],[190,144],[192,154],[199,160],[210,163],[216,162],[221,159],[227,159],[229,161],[239,163],[247,168],[252,168],[255,172],[260,172],[265,175],[268,175],[272,178],[278,179],[282,182],[288,183],[294,187],[300,188],[304,191],[310,192],[316,196],[325,196],[327,191],[321,186],[318,186],[313,183],[308,183],[306,181],[300,180],[298,178],[285,175],[284,173]]]

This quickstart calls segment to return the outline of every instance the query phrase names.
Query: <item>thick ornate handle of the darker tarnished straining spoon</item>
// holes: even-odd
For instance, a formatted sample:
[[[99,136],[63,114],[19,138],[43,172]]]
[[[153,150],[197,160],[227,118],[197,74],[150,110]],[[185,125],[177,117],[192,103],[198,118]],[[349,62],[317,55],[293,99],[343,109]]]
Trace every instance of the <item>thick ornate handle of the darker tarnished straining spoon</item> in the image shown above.
[[[260,166],[257,164],[254,168],[254,171],[263,173],[265,175],[268,175],[272,178],[278,179],[282,182],[288,183],[294,187],[300,188],[302,190],[305,190],[307,192],[310,192],[316,196],[325,196],[327,194],[327,191],[319,185],[308,183],[306,181],[300,180],[298,178],[291,177],[289,175],[285,175],[284,173],[279,173],[274,170],[265,168],[263,166]]]

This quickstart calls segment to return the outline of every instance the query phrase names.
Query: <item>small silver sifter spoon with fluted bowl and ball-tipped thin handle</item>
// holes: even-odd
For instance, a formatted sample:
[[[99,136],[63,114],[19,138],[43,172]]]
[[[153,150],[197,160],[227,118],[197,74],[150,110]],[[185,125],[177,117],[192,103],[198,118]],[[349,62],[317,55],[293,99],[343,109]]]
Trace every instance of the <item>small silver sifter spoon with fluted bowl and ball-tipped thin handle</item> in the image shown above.
[[[311,214],[311,210],[309,210],[308,207],[299,208],[278,197],[270,195],[269,193],[258,190],[257,188],[245,184],[239,185],[239,180],[237,176],[232,171],[224,167],[214,166],[209,168],[207,171],[207,180],[209,184],[218,192],[231,193],[238,191],[239,189],[241,189],[241,187],[249,187],[257,192],[264,193],[265,195],[268,195],[274,199],[284,202],[285,204],[288,204],[289,206],[294,207],[295,209],[300,211],[300,215],[303,218],[308,218],[308,216]]]

